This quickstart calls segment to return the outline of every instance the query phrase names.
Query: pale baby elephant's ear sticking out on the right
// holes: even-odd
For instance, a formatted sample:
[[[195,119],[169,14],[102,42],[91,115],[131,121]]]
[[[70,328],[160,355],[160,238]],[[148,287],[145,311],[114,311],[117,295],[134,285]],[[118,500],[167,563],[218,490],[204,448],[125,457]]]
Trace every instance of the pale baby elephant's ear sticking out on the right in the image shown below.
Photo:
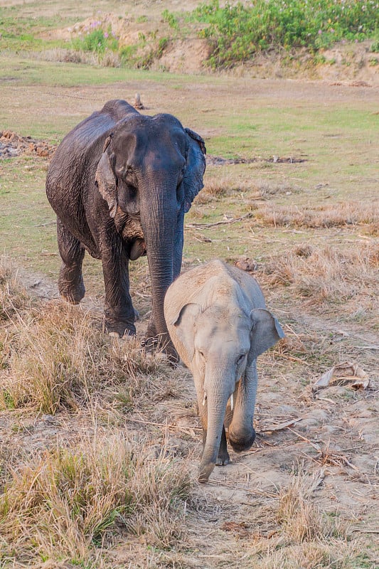
[[[249,361],[268,350],[281,338],[284,338],[282,326],[272,314],[264,308],[256,308],[250,312],[252,328],[250,330]]]

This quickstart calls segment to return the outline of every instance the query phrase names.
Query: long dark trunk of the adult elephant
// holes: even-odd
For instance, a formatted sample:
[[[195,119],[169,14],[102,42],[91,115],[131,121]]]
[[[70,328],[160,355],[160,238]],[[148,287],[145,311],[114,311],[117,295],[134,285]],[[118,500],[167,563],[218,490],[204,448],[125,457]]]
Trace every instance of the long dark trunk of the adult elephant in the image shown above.
[[[141,223],[146,243],[147,260],[151,277],[152,314],[146,331],[146,339],[159,338],[166,351],[175,353],[169,339],[164,319],[164,297],[174,280],[174,240],[178,211],[176,188],[167,184],[153,184],[146,195],[146,203],[141,206]],[[175,196],[175,198],[171,198]]]

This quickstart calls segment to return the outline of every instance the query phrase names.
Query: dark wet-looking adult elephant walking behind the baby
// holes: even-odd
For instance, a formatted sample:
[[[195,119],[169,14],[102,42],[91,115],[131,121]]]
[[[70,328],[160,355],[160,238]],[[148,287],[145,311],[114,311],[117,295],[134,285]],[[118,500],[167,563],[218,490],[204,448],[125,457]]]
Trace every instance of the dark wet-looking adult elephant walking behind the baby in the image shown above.
[[[203,139],[172,115],[141,115],[111,100],[80,122],[55,151],[46,179],[61,296],[74,304],[84,297],[87,250],[102,260],[107,331],[135,334],[128,265],[147,254],[153,306],[146,341],[169,341],[164,294],[181,270],[184,213],[204,171]]]

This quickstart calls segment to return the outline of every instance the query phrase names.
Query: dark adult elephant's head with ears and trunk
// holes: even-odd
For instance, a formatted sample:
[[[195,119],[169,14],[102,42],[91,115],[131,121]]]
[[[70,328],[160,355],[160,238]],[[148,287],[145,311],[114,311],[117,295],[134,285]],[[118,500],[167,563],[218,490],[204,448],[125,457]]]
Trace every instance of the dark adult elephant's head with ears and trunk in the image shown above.
[[[152,314],[146,337],[168,340],[164,294],[181,270],[183,216],[203,187],[203,139],[172,115],[131,113],[107,137],[96,181],[131,260],[147,254]]]

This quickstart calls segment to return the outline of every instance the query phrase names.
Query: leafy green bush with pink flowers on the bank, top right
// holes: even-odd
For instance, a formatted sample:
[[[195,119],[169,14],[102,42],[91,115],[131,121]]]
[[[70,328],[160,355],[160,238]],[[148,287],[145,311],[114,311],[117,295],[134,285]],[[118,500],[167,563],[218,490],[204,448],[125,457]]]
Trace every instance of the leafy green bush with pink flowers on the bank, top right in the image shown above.
[[[342,39],[362,41],[379,28],[377,0],[256,0],[221,7],[200,4],[191,20],[206,24],[201,36],[213,45],[209,63],[233,65],[261,50],[306,47],[316,52]]]

